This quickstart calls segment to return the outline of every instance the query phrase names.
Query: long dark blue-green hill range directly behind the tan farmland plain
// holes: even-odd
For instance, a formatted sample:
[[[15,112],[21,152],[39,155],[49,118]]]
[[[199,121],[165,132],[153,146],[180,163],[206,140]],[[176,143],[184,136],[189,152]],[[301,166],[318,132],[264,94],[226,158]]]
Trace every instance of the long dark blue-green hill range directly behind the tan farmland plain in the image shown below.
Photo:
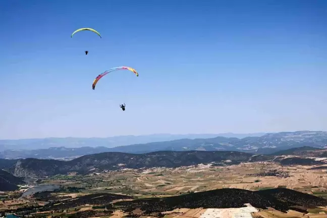
[[[0,162],[5,163],[5,161]],[[89,154],[70,161],[26,158],[11,160],[13,165],[0,166],[17,177],[45,177],[77,172],[89,174],[124,168],[177,168],[199,164],[212,166],[238,165],[241,162],[274,161],[282,165],[323,165],[323,161],[301,157],[276,157],[239,151],[156,151],[145,154],[104,152]]]

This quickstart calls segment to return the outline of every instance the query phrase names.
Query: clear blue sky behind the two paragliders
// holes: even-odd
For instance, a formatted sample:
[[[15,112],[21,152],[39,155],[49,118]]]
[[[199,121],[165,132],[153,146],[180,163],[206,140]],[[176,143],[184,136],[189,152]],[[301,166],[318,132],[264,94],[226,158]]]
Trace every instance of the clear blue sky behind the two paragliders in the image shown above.
[[[327,130],[327,1],[4,0],[0,20],[1,139]],[[139,77],[92,90],[118,66]]]

